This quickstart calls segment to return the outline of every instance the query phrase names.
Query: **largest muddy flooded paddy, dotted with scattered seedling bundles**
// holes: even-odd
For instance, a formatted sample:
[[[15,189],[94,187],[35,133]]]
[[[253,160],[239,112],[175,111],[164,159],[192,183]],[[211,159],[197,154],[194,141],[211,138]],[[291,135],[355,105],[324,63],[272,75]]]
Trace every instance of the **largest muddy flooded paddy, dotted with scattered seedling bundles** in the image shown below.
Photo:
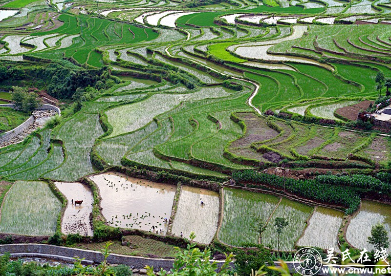
[[[152,226],[166,234],[173,208],[176,186],[126,176],[102,173],[90,179],[99,187],[102,213],[113,227],[152,231]]]

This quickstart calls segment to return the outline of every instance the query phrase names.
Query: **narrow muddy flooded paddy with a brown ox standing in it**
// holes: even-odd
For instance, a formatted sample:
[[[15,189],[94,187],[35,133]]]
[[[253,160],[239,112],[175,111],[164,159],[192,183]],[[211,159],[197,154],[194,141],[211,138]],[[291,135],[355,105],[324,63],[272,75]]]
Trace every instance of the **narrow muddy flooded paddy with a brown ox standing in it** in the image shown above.
[[[93,203],[91,190],[87,185],[78,182],[55,182],[55,185],[68,200],[61,225],[62,232],[92,236],[93,231],[89,220]],[[83,200],[83,203],[76,206],[72,204],[72,199],[73,201]]]

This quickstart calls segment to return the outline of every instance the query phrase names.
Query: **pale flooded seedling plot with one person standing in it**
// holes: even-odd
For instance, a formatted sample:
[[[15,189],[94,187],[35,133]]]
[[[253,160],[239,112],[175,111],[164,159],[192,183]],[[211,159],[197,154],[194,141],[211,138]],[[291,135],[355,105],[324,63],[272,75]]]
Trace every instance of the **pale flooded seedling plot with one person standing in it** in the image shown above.
[[[201,205],[201,201],[204,205]],[[205,189],[183,186],[179,196],[172,234],[189,237],[194,232],[194,241],[209,244],[217,230],[219,210],[218,193]]]

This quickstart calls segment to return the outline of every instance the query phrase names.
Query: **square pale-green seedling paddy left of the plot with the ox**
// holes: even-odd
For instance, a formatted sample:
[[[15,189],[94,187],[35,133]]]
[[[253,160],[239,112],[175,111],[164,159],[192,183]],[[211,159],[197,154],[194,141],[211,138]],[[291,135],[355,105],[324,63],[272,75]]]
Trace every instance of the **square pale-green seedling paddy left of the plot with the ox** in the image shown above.
[[[31,236],[56,232],[61,202],[47,183],[17,181],[8,191],[1,208],[1,233]]]

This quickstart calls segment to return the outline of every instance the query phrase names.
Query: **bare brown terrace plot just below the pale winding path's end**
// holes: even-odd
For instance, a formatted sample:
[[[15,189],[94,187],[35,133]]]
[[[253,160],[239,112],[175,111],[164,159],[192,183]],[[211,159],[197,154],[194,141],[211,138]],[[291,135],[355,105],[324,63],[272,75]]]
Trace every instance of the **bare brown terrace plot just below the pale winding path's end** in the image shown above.
[[[240,120],[246,124],[246,134],[231,144],[231,148],[247,148],[252,143],[272,139],[278,132],[266,125],[266,121],[254,113],[237,113]]]

